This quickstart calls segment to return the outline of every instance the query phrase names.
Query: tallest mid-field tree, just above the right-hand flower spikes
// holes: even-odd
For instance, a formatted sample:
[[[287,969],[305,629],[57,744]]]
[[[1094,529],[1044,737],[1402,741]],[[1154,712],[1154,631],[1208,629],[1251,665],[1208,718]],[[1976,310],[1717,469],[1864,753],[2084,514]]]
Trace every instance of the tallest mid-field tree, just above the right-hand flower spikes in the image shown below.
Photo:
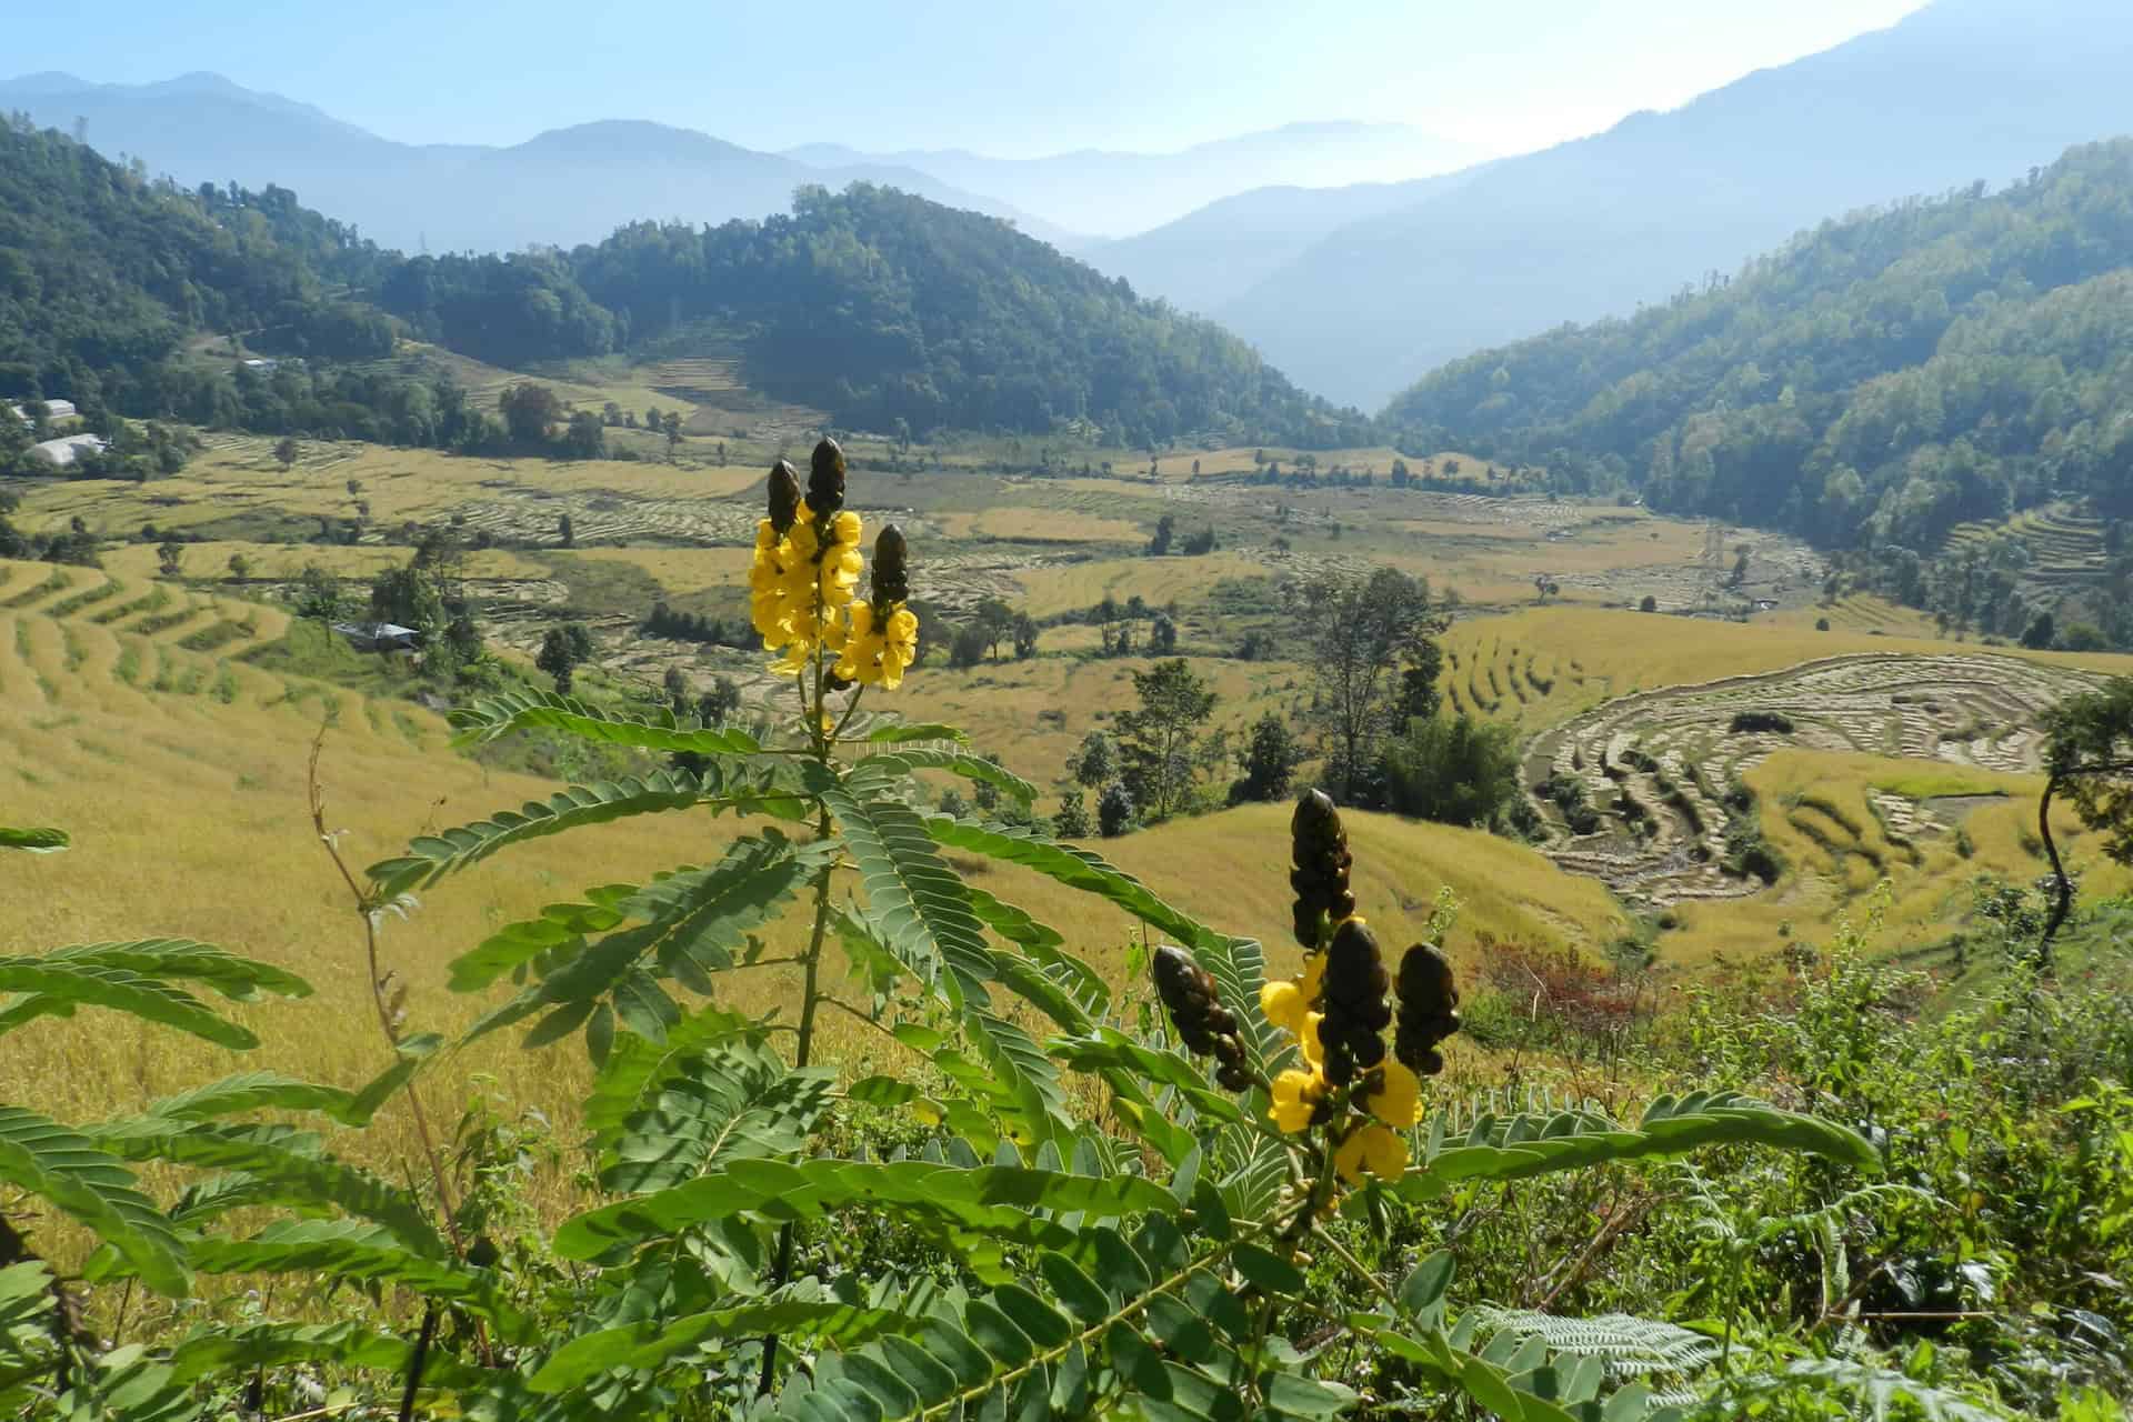
[[[1327,578],[1305,588],[1303,644],[1327,770],[1354,804],[1376,763],[1378,740],[1399,725],[1401,665],[1425,665],[1438,625],[1429,584],[1380,567],[1367,580]],[[1429,678],[1436,682],[1436,676]]]

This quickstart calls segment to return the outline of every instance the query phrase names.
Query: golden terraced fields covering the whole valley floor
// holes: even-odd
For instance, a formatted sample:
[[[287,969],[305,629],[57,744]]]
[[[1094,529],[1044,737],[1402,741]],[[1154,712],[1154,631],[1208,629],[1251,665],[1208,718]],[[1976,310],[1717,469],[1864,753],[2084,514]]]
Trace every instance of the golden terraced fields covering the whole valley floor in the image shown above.
[[[712,365],[587,367],[572,373],[572,399],[629,397],[642,405],[648,397],[665,407],[683,399],[702,424],[710,411],[736,414],[697,401],[734,377]],[[474,386],[482,373],[461,375]],[[471,819],[552,785],[486,772],[452,753],[442,721],[412,701],[264,672],[305,665],[271,655],[288,625],[277,593],[307,563],[360,586],[405,563],[420,529],[456,524],[491,544],[469,554],[465,571],[495,646],[529,659],[548,627],[576,618],[595,635],[597,665],[587,674],[595,686],[651,689],[680,667],[695,691],[729,676],[751,710],[781,712],[787,686],[764,672],[759,652],[638,631],[655,601],[729,625],[744,616],[764,463],[776,448],[804,452],[811,435],[774,422],[761,429],[768,435],[727,435],[725,465],[712,463],[719,431],[710,429],[691,433],[672,465],[305,441],[288,471],[273,460],[269,439],[215,435],[173,480],[17,482],[21,529],[64,529],[79,516],[111,539],[102,573],[6,565],[0,578],[0,686],[9,701],[0,776],[19,780],[19,789],[9,782],[0,810],[15,823],[68,825],[83,844],[28,870],[6,866],[11,878],[36,874],[38,917],[23,925],[28,942],[143,932],[154,908],[158,927],[292,955],[284,962],[322,985],[320,1002],[296,1011],[328,1013],[320,1021],[346,1017],[360,1004],[346,957],[352,940],[301,817],[301,765],[326,708],[339,708],[341,727],[328,738],[328,789],[363,844],[360,859],[390,853],[424,825]],[[1546,853],[1365,817],[1359,838],[1372,844],[1369,853],[1359,844],[1359,855],[1374,866],[1367,872],[1386,876],[1376,898],[1401,904],[1389,919],[1393,934],[1418,930],[1436,885],[1450,883],[1468,902],[1470,927],[1598,951],[1636,932],[1638,915],[1651,921],[1664,912],[1662,957],[1698,962],[1768,951],[1794,930],[1819,936],[1888,876],[1888,942],[1932,940],[1964,917],[1973,874],[2031,878],[2039,868],[2018,823],[2022,797],[2035,793],[2028,723],[2039,706],[2086,684],[2086,674],[2133,667],[2133,659],[2110,657],[1982,657],[1979,648],[1932,640],[1920,614],[1866,595],[1819,605],[1819,559],[1773,535],[1610,503],[1391,490],[1382,486],[1391,450],[1320,456],[1320,467],[1374,467],[1378,486],[1310,490],[1233,478],[1252,469],[1252,450],[1180,452],[1158,460],[1158,478],[1148,480],[1145,465],[1130,458],[1118,458],[1109,478],[1000,473],[983,467],[988,448],[1003,452],[996,443],[956,446],[928,452],[947,467],[860,469],[851,480],[868,535],[896,520],[911,537],[913,584],[932,608],[934,631],[988,597],[1041,620],[1105,597],[1173,610],[1180,652],[1218,691],[1216,727],[1239,746],[1265,710],[1301,723],[1310,704],[1308,667],[1295,661],[1305,648],[1239,661],[1239,644],[1286,633],[1305,580],[1395,565],[1427,576],[1440,593],[1459,593],[1461,612],[1444,640],[1448,708],[1514,723],[1529,738],[1527,782],[1555,770],[1585,780],[1595,806],[1630,791],[1653,810],[1649,834],[1608,814],[1604,834],[1557,834]],[[894,450],[860,439],[853,454],[887,458]],[[1079,467],[1069,454],[1058,452],[1054,465]],[[1284,467],[1293,458],[1269,454]],[[1201,480],[1190,475],[1192,458]],[[565,514],[572,548],[561,546]],[[1218,550],[1145,556],[1162,516],[1173,518],[1180,542],[1214,531]],[[358,542],[348,544],[356,518]],[[186,546],[179,582],[156,576],[158,542],[171,531],[203,539]],[[232,554],[247,561],[241,584],[228,576]],[[1555,584],[1546,605],[1536,605],[1536,576]],[[1642,597],[1662,612],[1632,612]],[[1830,631],[1815,629],[1822,618]],[[902,693],[875,704],[968,727],[979,748],[1043,789],[1039,808],[1049,812],[1069,753],[1133,704],[1130,674],[1150,665],[1145,657],[1101,659],[1096,644],[1090,625],[1052,625],[1030,661],[949,672],[936,659]],[[1715,680],[1728,686],[1668,691]],[[392,680],[378,669],[352,684],[382,693]],[[1794,733],[1732,733],[1741,710],[1785,714]],[[1634,763],[1632,750],[1649,755],[1653,767]],[[1939,778],[1920,780],[1928,772]],[[1231,774],[1222,767],[1209,778],[1220,787]],[[1785,857],[1773,887],[1717,868],[1728,827],[1721,799],[1734,778],[1760,795],[1758,827]],[[1233,810],[1105,849],[1212,921],[1278,938],[1286,898],[1278,821],[1276,810]],[[156,823],[183,825],[183,844],[124,880],[141,885],[139,893],[92,900],[87,885],[145,853]],[[418,1017],[448,1028],[474,1011],[437,993],[454,951],[580,885],[717,853],[723,829],[700,829],[702,844],[678,849],[665,825],[614,825],[595,836],[597,849],[593,840],[567,855],[535,846],[446,885],[395,932],[395,947],[407,944],[401,972],[427,1004]],[[1235,863],[1244,870],[1224,870]],[[247,887],[258,866],[314,891],[254,908]],[[1069,915],[1060,927],[1077,949],[1122,964],[1130,925],[1090,917],[1047,883],[992,874],[988,887],[1022,895],[1039,915]],[[2092,883],[2118,880],[2095,870]],[[785,993],[776,974],[744,987],[747,1004],[761,1011]],[[275,1036],[299,1055],[316,1053],[282,1064],[290,1070],[346,1081],[369,1062],[363,1036]],[[516,1077],[512,1062],[510,1053],[478,1055],[465,1068],[501,1072],[506,1089],[525,1100],[567,1094],[570,1083]],[[98,1077],[83,1089],[124,1096],[117,1079]]]

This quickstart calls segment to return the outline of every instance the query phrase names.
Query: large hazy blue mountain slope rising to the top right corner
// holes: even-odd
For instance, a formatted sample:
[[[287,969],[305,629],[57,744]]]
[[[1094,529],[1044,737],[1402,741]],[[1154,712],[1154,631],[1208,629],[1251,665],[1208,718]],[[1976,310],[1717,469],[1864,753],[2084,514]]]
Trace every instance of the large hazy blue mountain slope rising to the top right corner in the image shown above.
[[[1212,316],[1305,388],[1378,405],[1444,360],[1627,313],[1824,217],[1996,185],[2129,132],[2129,66],[2124,0],[1941,0],[1350,222]]]

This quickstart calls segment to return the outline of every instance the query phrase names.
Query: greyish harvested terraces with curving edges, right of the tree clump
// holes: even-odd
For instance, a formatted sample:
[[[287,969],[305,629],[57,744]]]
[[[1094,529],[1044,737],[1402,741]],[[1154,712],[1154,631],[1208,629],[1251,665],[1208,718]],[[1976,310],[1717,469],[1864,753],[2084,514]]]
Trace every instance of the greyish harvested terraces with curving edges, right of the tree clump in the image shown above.
[[[1534,738],[1525,770],[1529,782],[1581,782],[1600,810],[1600,829],[1574,836],[1536,797],[1563,829],[1549,849],[1557,866],[1634,902],[1736,898],[1762,883],[1721,870],[1732,817],[1723,795],[1770,755],[1849,753],[2024,774],[2039,763],[2043,710],[2097,680],[2011,657],[1832,657],[1608,701]],[[1802,799],[1787,817],[1824,846],[1862,840],[1856,817],[1873,817],[1890,836],[1918,836],[1947,827],[1932,797],[1883,787],[1849,808]]]

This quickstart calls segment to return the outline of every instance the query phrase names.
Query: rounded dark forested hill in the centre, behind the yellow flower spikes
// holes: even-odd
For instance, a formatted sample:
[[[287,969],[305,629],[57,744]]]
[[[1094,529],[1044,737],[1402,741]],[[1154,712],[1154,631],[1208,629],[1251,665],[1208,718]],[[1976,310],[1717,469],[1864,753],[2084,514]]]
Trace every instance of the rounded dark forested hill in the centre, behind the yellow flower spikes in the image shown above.
[[[1092,420],[1137,446],[1192,431],[1303,446],[1367,433],[1220,326],[996,217],[892,188],[802,188],[791,215],[766,222],[634,224],[574,252],[572,269],[631,343],[732,328],[751,384],[843,424]]]

